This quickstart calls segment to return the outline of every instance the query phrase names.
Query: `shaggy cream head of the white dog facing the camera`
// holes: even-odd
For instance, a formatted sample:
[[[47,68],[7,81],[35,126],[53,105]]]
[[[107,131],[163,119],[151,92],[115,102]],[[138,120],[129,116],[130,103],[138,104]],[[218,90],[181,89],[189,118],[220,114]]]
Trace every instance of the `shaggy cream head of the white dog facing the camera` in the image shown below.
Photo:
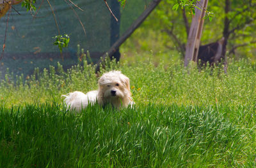
[[[119,108],[127,106],[131,99],[130,81],[120,71],[104,73],[99,79],[99,103],[111,103]],[[122,104],[122,105],[121,105]]]

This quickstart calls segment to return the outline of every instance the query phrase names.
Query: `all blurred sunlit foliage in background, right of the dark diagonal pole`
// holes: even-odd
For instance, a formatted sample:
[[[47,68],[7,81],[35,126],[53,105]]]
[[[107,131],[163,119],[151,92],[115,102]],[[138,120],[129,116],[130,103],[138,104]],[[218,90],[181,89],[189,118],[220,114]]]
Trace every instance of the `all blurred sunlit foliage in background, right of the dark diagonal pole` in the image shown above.
[[[124,48],[128,47],[130,50],[139,53],[148,52],[149,50],[170,53],[178,51],[180,58],[183,59],[192,15],[189,15],[191,14],[189,5],[185,5],[182,9],[180,8],[180,2],[189,4],[191,1],[161,1],[156,10],[152,11],[147,20],[124,43]],[[210,22],[210,20],[205,19],[201,45],[218,41],[223,37],[225,16],[228,16],[230,19],[228,31],[231,33],[227,44],[228,56],[236,59],[250,57],[255,60],[256,34],[253,31],[256,29],[255,3],[243,1],[243,4],[241,4],[239,2],[230,1],[230,11],[225,15],[224,1],[209,1],[207,10],[211,11],[212,20]],[[175,10],[172,10],[172,8]],[[184,13],[184,11],[186,12]],[[148,36],[148,33],[150,33],[150,36]],[[148,43],[147,41],[152,43],[149,49],[143,48],[144,43]],[[136,45],[131,48],[132,43]],[[157,43],[161,45],[157,47]]]

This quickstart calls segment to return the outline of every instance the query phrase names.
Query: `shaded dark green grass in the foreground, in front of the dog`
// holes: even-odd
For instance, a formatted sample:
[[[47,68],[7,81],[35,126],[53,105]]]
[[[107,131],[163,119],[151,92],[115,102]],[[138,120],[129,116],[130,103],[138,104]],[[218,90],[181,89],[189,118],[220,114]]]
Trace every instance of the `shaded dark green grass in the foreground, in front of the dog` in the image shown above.
[[[1,167],[239,167],[254,165],[248,131],[226,111],[148,104],[74,115],[49,103],[1,108]],[[252,122],[252,120],[251,120]],[[252,149],[251,149],[252,150]]]

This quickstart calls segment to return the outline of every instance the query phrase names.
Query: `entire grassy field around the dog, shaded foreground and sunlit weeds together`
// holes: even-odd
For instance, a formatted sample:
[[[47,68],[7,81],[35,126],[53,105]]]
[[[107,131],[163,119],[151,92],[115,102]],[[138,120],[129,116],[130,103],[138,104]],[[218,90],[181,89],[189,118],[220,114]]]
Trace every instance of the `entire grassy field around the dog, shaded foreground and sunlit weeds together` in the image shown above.
[[[61,94],[97,89],[86,62],[0,84],[0,167],[255,167],[256,68],[250,60],[106,62],[131,80],[133,109],[74,114]],[[102,71],[102,73],[104,73]]]

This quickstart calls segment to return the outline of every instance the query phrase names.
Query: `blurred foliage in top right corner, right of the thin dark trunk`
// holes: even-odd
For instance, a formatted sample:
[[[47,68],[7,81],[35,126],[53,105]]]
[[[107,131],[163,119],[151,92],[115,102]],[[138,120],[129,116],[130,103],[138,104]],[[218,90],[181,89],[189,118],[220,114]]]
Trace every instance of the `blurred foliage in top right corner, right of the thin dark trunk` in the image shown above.
[[[230,24],[230,53],[236,53],[236,50],[243,47],[242,51],[246,52],[247,57],[254,56],[252,48],[256,47],[256,34],[252,30],[256,28],[255,7],[255,1],[232,1],[229,4],[229,11],[225,16]]]

